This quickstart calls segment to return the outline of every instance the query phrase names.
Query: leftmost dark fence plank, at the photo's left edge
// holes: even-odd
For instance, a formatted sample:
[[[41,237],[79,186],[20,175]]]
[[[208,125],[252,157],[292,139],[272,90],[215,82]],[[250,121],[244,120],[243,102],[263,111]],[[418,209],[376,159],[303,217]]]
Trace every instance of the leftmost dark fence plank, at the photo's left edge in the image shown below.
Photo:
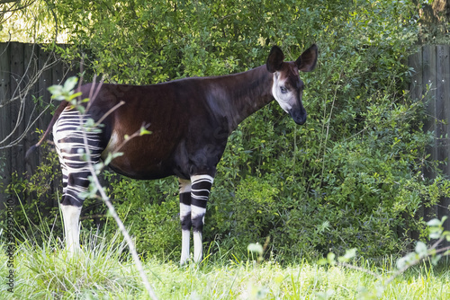
[[[0,44],[0,141],[11,132],[11,105],[6,103],[11,95],[10,81],[10,48],[8,43]],[[1,146],[6,146],[11,142],[11,138],[4,141]],[[11,148],[0,151],[0,171],[1,184],[0,190],[0,209],[4,209],[5,201],[8,199],[4,193],[4,188],[11,182]]]

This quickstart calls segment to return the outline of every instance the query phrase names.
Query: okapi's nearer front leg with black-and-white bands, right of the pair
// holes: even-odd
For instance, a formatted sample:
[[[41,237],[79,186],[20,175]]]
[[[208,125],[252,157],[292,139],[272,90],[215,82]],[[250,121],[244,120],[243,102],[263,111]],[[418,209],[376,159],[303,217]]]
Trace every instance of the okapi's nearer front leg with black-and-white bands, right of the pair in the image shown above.
[[[191,220],[193,226],[193,261],[202,260],[202,230],[206,202],[210,197],[212,181],[209,175],[191,176]]]

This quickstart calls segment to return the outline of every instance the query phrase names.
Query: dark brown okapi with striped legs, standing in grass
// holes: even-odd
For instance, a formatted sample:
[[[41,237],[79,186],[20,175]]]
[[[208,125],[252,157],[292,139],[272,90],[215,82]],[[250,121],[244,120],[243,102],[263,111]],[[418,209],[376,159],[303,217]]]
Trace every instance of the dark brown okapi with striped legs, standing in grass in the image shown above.
[[[91,98],[83,118],[100,120],[103,124],[102,130],[87,133],[89,158],[92,163],[99,163],[121,146],[122,155],[110,163],[113,171],[139,180],[177,176],[181,264],[190,256],[191,229],[193,260],[199,262],[206,202],[229,135],[242,120],[274,99],[295,123],[302,125],[306,110],[299,71],[313,70],[317,56],[314,44],[297,60],[284,62],[283,51],[274,46],[265,66],[239,74],[142,86],[102,84],[95,94],[93,84],[82,85],[76,92],[82,93],[81,99]],[[121,101],[124,104],[112,110]],[[80,192],[87,190],[90,172],[80,154],[85,149],[80,117],[67,103],[61,102],[44,136],[31,149],[40,146],[53,127],[63,173],[60,207],[66,247],[73,253],[79,249],[78,223],[85,200]],[[132,138],[123,145],[126,136],[139,130],[142,124],[149,124],[151,134]]]

